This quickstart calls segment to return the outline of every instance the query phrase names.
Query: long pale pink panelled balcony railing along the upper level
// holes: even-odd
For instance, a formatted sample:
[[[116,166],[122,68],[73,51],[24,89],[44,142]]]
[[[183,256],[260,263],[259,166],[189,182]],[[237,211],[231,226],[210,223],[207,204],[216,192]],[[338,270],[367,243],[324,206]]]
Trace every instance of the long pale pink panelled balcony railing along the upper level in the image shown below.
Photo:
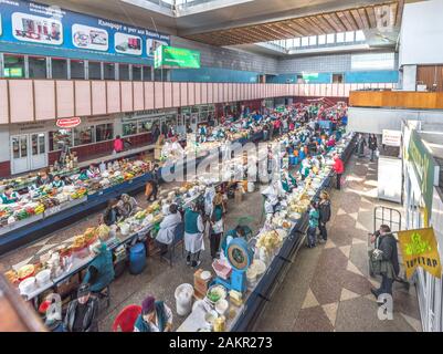
[[[0,80],[0,124],[97,116],[273,97],[348,97],[393,84],[252,84]]]

